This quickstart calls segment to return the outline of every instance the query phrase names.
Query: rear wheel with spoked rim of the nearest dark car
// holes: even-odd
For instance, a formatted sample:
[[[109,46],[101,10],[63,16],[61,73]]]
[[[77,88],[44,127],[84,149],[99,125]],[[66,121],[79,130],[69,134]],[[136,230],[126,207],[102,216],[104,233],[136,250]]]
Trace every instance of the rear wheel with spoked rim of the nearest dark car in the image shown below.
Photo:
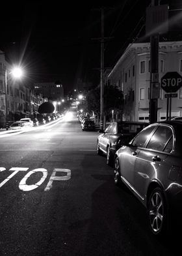
[[[148,201],[149,228],[153,234],[161,236],[167,229],[167,210],[166,202],[162,189],[157,187],[153,189]]]

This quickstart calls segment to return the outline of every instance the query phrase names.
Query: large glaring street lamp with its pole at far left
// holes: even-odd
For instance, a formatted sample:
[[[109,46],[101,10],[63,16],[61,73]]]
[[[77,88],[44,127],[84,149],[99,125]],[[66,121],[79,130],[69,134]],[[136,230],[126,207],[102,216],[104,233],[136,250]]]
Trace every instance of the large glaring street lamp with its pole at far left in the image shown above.
[[[15,67],[8,74],[12,74],[14,78],[21,78],[23,71],[20,67]],[[6,121],[6,130],[8,130],[8,104],[7,104],[7,69],[5,69],[5,121]]]

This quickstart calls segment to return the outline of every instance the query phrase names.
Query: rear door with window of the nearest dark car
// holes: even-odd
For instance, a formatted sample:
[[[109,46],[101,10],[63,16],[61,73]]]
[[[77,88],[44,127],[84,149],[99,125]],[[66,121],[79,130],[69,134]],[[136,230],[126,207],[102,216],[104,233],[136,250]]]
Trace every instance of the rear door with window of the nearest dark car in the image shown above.
[[[166,159],[172,151],[173,142],[172,128],[157,125],[146,148],[141,148],[136,155],[134,187],[142,200],[146,199],[149,183],[152,180],[160,180],[161,174],[168,172]]]

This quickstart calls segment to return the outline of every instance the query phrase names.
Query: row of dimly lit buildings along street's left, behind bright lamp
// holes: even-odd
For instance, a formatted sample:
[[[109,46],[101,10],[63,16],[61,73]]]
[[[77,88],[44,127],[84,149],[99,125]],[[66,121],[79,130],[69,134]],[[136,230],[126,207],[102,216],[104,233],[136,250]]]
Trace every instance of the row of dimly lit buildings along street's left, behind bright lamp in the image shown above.
[[[26,80],[14,80],[10,68],[5,53],[0,51],[0,128],[6,127],[7,121],[32,118],[38,106],[45,101],[42,95],[34,95],[31,85],[26,84]],[[34,108],[32,104],[35,105]]]

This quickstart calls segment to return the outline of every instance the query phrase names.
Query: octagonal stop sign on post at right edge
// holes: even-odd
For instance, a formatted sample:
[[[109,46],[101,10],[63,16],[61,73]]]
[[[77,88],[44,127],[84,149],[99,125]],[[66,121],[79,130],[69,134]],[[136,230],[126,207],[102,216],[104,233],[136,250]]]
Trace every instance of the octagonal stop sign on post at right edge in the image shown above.
[[[175,93],[182,86],[182,76],[178,72],[167,72],[161,78],[161,88],[166,93]]]

